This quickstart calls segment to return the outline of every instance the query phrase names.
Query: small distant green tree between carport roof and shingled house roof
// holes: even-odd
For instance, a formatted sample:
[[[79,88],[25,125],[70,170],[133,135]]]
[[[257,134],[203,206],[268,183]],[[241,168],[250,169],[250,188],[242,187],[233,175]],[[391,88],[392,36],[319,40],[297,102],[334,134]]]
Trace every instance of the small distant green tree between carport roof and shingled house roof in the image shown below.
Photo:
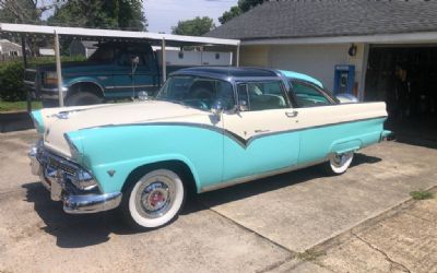
[[[192,20],[179,21],[177,26],[172,27],[173,34],[202,36],[215,28],[214,21],[211,17],[194,17]]]

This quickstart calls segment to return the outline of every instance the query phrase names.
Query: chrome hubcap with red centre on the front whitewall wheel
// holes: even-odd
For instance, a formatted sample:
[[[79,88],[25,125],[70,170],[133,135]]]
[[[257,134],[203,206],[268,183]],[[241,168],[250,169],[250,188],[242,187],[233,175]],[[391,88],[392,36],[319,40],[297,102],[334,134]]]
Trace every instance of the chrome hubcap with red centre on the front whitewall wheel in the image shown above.
[[[147,218],[156,218],[172,207],[175,199],[175,187],[172,180],[155,179],[144,182],[137,193],[137,209],[139,213]]]

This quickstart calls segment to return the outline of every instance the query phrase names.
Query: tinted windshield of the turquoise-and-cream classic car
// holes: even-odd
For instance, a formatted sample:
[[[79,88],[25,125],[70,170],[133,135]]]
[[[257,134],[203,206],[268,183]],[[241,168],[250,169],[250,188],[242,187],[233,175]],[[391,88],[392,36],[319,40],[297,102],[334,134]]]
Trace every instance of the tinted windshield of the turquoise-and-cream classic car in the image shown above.
[[[217,100],[225,110],[232,109],[235,105],[231,83],[193,75],[170,76],[156,99],[188,105],[201,110],[210,110]]]

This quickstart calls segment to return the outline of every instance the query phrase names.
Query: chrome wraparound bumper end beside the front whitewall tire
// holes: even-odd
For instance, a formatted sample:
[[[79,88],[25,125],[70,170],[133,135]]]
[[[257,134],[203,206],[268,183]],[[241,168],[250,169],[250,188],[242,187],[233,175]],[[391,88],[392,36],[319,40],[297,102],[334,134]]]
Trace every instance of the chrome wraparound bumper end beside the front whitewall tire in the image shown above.
[[[67,195],[63,198],[63,211],[69,214],[85,214],[109,211],[120,204],[121,197],[121,192]]]

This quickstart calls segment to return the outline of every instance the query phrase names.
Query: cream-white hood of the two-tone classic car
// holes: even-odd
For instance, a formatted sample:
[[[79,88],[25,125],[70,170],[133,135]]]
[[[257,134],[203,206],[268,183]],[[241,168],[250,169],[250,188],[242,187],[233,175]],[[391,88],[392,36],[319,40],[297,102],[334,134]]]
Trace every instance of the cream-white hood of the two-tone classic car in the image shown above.
[[[44,135],[45,146],[64,156],[71,156],[64,133],[104,126],[135,124],[157,121],[190,121],[206,111],[162,100],[95,105],[82,107],[47,108],[34,111],[38,130]],[[38,118],[39,117],[39,118]],[[38,124],[36,124],[39,127]]]

